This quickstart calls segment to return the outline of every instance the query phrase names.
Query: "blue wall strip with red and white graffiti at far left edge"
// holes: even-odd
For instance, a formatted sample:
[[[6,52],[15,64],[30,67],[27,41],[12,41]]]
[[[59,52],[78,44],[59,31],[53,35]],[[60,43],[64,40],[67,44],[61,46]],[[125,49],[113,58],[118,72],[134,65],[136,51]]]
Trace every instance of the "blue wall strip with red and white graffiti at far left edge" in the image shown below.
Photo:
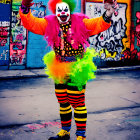
[[[0,66],[9,65],[10,10],[10,2],[0,1]]]

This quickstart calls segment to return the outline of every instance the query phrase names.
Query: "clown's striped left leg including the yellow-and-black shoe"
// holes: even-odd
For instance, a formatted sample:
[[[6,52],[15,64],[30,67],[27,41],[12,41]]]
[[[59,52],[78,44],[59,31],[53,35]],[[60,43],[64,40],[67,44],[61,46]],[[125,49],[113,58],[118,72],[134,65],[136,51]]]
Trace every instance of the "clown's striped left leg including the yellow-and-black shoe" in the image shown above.
[[[68,96],[66,93],[66,85],[55,84],[55,94],[60,104],[60,118],[62,130],[55,137],[49,138],[49,140],[69,140],[71,120],[72,120],[72,110],[71,105],[68,103]]]

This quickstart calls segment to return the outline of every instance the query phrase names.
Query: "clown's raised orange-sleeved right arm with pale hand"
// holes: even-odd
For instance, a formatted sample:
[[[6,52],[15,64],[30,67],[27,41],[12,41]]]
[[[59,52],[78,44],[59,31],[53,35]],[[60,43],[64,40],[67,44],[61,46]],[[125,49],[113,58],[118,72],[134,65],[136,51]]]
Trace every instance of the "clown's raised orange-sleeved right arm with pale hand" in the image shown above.
[[[106,12],[101,17],[98,18],[91,18],[91,19],[83,19],[83,22],[86,28],[89,30],[90,36],[99,34],[107,30],[111,26],[111,16],[115,12],[115,8],[108,4],[105,7]]]

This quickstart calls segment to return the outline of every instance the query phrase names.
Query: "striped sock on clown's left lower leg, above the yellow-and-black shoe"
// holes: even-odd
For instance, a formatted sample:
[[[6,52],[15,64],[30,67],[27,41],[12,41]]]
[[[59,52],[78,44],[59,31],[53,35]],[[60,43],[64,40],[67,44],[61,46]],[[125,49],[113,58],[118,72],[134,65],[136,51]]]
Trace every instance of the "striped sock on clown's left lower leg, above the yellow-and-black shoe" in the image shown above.
[[[62,129],[70,131],[72,120],[72,109],[69,103],[60,103],[60,117]]]

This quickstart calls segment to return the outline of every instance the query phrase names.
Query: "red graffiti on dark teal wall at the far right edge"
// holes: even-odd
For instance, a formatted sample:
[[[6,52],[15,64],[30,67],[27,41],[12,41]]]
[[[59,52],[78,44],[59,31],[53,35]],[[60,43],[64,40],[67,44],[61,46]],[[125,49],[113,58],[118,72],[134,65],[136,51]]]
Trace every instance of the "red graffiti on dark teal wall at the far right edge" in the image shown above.
[[[132,23],[131,23],[131,35],[130,35],[130,48],[126,48],[122,52],[122,60],[129,60],[134,64],[140,62],[140,2],[133,2],[132,7]]]

